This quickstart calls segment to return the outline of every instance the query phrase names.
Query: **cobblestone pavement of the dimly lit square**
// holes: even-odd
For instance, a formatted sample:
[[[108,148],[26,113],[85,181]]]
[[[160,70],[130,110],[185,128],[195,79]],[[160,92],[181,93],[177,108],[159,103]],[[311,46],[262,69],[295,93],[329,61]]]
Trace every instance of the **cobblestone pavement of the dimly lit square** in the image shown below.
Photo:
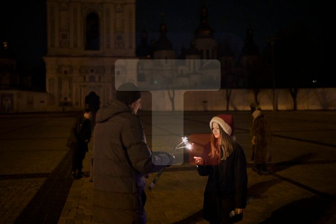
[[[209,133],[208,122],[218,113],[223,112],[186,112],[185,135]],[[269,175],[252,171],[251,114],[230,113],[248,161],[249,203],[240,223],[336,223],[336,112],[266,112],[272,130]],[[0,115],[0,223],[91,223],[92,182],[71,179],[65,147],[75,115]],[[150,143],[151,131],[158,129],[150,114],[140,117]],[[159,135],[179,137],[169,136],[163,122]],[[91,157],[92,142],[84,160],[87,173]],[[206,181],[187,161],[166,168],[154,188],[146,189],[147,223],[208,223],[202,218]]]

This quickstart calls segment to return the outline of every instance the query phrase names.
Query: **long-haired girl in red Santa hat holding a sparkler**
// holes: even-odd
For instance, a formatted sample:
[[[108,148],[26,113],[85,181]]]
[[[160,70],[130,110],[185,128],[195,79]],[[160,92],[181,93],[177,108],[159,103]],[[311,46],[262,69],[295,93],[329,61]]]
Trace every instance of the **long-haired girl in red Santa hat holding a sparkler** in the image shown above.
[[[232,115],[220,114],[210,121],[211,140],[201,157],[195,156],[201,176],[209,176],[204,192],[203,217],[215,223],[234,223],[246,207],[245,153],[235,142]]]

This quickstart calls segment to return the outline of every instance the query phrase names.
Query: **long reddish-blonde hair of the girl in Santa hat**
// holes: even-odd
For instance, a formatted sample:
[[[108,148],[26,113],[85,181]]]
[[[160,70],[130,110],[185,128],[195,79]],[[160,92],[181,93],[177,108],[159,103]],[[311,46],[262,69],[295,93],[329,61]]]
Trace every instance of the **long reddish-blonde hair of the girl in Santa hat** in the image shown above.
[[[214,134],[211,135],[211,152],[209,157],[217,160],[226,160],[231,155],[233,150],[233,139],[229,136],[223,128],[219,125],[219,138],[215,138]]]

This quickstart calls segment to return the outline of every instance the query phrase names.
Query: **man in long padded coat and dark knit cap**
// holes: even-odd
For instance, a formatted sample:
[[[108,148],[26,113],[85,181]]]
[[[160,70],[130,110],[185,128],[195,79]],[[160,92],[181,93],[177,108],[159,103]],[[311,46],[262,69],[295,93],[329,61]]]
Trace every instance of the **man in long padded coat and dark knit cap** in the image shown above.
[[[121,85],[116,100],[98,110],[93,134],[93,221],[146,223],[144,175],[174,162],[166,152],[151,152],[136,116],[141,94]]]

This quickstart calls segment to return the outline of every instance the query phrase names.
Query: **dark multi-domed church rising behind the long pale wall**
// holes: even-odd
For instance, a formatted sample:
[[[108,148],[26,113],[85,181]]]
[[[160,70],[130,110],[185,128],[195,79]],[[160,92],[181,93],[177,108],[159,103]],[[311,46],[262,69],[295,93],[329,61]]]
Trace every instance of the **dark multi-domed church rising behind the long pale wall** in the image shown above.
[[[175,84],[173,85],[177,89],[190,86],[190,84],[195,86],[195,83],[196,87],[198,85],[204,86],[205,80],[209,78],[214,82],[220,82],[221,88],[253,87],[254,83],[258,80],[255,81],[252,74],[261,71],[261,61],[258,47],[253,40],[252,28],[250,27],[247,30],[242,52],[240,52],[239,55],[235,55],[230,48],[229,40],[215,39],[215,31],[209,24],[208,16],[208,9],[205,2],[203,2],[199,14],[199,26],[195,28],[195,36],[190,41],[189,49],[181,49],[179,56],[177,56],[177,53],[174,51],[172,42],[167,38],[167,27],[164,22],[160,24],[158,39],[152,40],[150,44],[148,44],[146,32],[143,31],[141,34],[141,43],[139,43],[136,49],[136,56],[143,60],[185,60],[185,63],[180,62],[180,66],[171,69],[176,70],[174,77]],[[220,62],[220,79],[216,79],[217,74],[214,74],[214,71],[207,68],[209,67],[210,60],[218,60]],[[142,62],[142,64],[150,63]],[[150,72],[144,74],[144,72],[141,71],[142,67],[146,66],[139,66],[140,73],[137,79],[139,85],[144,83],[146,86],[155,86],[156,83],[160,82],[155,77],[155,74]],[[150,67],[154,67],[153,70],[155,70],[155,66]],[[209,72],[207,72],[207,70]],[[203,74],[200,74],[200,71],[203,71],[201,72]],[[213,74],[214,77],[205,75],[207,73]],[[209,77],[207,78],[205,76]]]

